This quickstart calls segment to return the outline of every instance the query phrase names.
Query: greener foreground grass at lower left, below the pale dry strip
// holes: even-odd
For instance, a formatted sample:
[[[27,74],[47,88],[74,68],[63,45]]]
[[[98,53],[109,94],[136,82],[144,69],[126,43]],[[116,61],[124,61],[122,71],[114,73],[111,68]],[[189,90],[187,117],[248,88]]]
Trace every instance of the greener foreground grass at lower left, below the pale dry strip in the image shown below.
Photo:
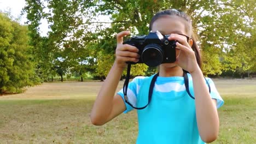
[[[125,133],[136,131],[127,128],[136,123],[136,118],[129,119],[134,113],[96,127],[89,119],[92,103],[90,99],[1,101],[0,143],[121,143],[121,137],[113,139],[117,131],[134,135]]]

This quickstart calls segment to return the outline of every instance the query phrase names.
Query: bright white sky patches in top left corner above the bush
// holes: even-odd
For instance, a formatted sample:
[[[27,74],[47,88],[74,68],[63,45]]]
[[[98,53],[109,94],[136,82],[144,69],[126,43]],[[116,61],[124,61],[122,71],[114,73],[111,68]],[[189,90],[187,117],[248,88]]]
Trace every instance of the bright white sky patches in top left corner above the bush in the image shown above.
[[[22,8],[25,7],[25,0],[0,0],[0,10],[10,11],[14,18],[19,18],[21,15]],[[26,15],[21,16],[21,25],[24,25],[27,21]],[[46,36],[48,32],[48,23],[42,21],[40,28],[40,34]]]

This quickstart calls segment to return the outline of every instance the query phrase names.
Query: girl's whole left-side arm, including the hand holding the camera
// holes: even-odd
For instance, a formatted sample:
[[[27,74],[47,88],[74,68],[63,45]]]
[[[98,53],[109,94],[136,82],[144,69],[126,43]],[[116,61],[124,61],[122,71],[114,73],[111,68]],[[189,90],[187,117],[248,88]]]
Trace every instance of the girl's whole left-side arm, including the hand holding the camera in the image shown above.
[[[138,49],[131,45],[123,45],[123,37],[130,34],[129,31],[123,31],[117,34],[117,49],[115,50],[115,62],[110,69],[106,80],[104,81],[100,92],[97,95],[94,106],[91,111],[91,122],[95,125],[107,123],[126,107],[120,95],[115,94],[119,80],[126,67],[126,62],[138,62]]]

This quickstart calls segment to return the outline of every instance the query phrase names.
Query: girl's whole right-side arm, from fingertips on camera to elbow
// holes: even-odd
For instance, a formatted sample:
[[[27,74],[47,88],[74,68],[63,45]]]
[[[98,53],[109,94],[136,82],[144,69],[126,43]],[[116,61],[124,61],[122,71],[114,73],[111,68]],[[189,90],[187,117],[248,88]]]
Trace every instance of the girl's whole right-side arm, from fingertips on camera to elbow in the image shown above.
[[[193,40],[189,40],[178,34],[171,34],[169,40],[178,40],[176,49],[181,52],[176,59],[177,65],[187,70],[193,78],[193,87],[196,105],[196,121],[201,139],[212,142],[217,139],[219,133],[219,116],[216,100],[211,98],[205,79],[199,65],[196,62],[195,52],[191,49]]]

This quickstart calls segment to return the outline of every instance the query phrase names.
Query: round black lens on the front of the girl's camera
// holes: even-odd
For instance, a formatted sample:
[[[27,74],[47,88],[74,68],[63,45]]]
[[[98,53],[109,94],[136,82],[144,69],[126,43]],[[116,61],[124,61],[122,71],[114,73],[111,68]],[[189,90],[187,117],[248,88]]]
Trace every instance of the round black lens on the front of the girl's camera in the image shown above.
[[[142,51],[142,62],[149,67],[156,67],[162,63],[163,52],[160,45],[149,44]]]

